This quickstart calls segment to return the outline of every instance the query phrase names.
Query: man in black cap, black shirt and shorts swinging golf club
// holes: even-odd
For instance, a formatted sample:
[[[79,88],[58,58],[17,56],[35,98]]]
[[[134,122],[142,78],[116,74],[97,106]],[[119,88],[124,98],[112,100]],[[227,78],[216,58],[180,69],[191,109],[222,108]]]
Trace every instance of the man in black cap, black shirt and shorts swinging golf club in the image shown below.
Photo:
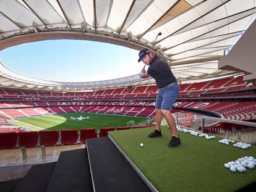
[[[153,77],[156,81],[156,86],[158,86],[158,93],[156,96],[156,129],[150,135],[150,138],[155,138],[157,136],[162,136],[161,133],[161,120],[162,117],[166,119],[171,130],[171,141],[168,143],[170,148],[174,148],[181,144],[181,140],[177,135],[176,123],[173,115],[171,114],[171,109],[173,109],[173,104],[179,94],[179,84],[176,78],[171,72],[171,69],[166,61],[156,56],[153,52],[148,49],[142,49],[139,52],[139,60],[145,65],[148,65],[148,70],[146,72],[145,66],[140,72],[141,78]]]

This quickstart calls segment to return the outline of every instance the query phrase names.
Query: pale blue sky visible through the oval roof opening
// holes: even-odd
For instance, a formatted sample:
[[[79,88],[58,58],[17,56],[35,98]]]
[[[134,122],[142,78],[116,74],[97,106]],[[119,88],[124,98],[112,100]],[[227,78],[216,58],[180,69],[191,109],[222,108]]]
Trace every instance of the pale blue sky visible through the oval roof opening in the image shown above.
[[[135,75],[139,51],[85,40],[47,40],[0,51],[7,69],[43,80],[82,82]]]

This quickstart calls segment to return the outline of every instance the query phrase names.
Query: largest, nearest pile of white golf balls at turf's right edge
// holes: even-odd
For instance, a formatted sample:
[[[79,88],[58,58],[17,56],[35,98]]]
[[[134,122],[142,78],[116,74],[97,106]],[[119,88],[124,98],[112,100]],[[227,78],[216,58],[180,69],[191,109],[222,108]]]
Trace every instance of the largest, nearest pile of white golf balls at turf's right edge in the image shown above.
[[[231,161],[224,164],[224,167],[231,170],[231,172],[246,172],[246,168],[254,169],[256,166],[256,159],[254,157],[242,157],[237,159],[236,161]]]

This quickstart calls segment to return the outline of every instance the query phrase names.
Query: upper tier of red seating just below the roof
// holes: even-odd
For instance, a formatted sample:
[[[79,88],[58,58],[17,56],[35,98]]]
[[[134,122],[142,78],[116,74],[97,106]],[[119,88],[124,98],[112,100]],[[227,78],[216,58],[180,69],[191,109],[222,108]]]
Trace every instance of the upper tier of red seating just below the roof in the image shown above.
[[[179,96],[212,94],[236,90],[256,88],[256,85],[247,85],[242,76],[203,81],[198,83],[181,84]],[[155,85],[135,86],[134,88],[116,88],[89,92],[47,92],[47,91],[20,91],[0,90],[0,99],[114,99],[155,97],[158,88]]]

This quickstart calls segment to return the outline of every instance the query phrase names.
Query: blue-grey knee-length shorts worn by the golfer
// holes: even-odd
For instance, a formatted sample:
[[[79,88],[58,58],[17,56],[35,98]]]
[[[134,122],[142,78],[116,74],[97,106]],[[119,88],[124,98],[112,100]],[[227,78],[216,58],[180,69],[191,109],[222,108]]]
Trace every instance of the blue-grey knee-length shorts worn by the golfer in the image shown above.
[[[156,96],[156,109],[165,109],[171,111],[173,104],[179,94],[179,83],[171,83],[168,86],[158,89]]]

